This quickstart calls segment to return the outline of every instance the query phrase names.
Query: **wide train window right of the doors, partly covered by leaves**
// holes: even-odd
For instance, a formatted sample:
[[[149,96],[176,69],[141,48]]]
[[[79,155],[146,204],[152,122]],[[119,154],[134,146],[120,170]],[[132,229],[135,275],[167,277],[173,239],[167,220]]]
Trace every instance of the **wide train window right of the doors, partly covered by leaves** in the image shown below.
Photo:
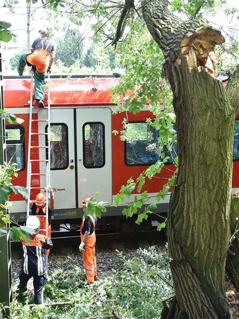
[[[173,162],[177,153],[177,145],[174,143],[173,150],[169,154],[165,149],[161,156],[155,151],[159,131],[145,122],[133,122],[128,124],[127,139],[125,141],[125,163],[129,166],[155,164],[159,158],[169,156],[168,164]]]

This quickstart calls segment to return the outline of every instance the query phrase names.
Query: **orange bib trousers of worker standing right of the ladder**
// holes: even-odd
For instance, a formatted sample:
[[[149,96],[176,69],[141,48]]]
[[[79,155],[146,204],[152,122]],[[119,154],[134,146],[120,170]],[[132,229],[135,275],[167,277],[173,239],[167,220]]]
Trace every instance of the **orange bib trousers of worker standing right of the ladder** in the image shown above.
[[[84,236],[81,233],[81,241]],[[94,282],[94,276],[97,276],[97,268],[96,268],[96,258],[95,258],[95,242],[96,237],[93,233],[90,237],[87,238],[84,249],[82,252],[83,255],[83,265],[86,273],[86,280],[89,283]]]

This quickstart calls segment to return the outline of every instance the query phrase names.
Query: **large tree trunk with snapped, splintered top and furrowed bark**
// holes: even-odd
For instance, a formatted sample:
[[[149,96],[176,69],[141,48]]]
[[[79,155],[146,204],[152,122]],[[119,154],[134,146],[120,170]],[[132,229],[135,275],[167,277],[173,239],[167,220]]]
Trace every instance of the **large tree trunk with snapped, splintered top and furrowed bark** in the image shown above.
[[[224,38],[202,21],[181,21],[167,6],[142,3],[165,57],[176,114],[179,164],[167,219],[175,300],[167,318],[226,319],[234,110],[210,53]]]

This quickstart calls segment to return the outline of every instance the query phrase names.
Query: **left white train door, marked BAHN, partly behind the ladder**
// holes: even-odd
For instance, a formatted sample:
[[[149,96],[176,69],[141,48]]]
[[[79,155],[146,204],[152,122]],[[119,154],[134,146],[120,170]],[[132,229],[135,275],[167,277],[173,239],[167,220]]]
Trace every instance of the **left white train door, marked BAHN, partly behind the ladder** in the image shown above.
[[[47,118],[46,110],[38,111],[38,119]],[[54,189],[55,209],[76,208],[74,110],[53,109],[50,112],[50,181]],[[38,132],[46,132],[46,122],[39,122]],[[45,135],[39,135],[39,145],[46,145]],[[47,145],[46,145],[47,146]],[[39,158],[48,157],[48,149],[40,148]],[[45,163],[40,163],[40,173]],[[45,177],[41,176],[41,186]]]

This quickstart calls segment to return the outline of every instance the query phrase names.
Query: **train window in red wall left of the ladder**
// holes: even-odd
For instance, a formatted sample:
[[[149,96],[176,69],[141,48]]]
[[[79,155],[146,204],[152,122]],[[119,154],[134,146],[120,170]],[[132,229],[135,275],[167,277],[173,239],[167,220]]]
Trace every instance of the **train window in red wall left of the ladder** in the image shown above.
[[[21,125],[6,125],[7,161],[16,163],[19,171],[25,169],[25,131]]]

